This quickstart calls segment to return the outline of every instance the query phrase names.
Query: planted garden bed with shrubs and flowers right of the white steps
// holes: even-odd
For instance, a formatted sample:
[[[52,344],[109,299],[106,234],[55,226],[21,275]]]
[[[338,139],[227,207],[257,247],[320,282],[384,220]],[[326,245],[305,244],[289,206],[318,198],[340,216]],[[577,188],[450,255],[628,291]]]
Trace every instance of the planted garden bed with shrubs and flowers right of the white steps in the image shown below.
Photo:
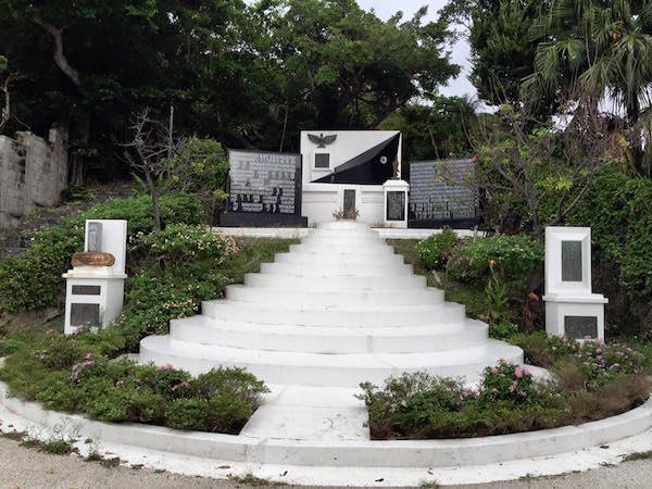
[[[465,438],[554,428],[614,416],[650,394],[652,350],[636,337],[606,344],[549,337],[540,328],[543,249],[527,235],[463,238],[444,229],[422,241],[394,240],[415,272],[447,300],[489,324],[489,334],[547,368],[536,381],[517,365],[488,366],[479,385],[423,373],[363,384],[375,439]]]

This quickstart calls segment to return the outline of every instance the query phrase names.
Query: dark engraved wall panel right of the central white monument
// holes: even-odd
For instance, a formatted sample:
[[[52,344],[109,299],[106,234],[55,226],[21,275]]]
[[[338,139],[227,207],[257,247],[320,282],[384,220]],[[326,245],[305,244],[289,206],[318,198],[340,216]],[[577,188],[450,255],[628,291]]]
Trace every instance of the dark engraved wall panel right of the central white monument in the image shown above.
[[[474,159],[412,162],[408,214],[410,227],[469,228],[477,225]]]

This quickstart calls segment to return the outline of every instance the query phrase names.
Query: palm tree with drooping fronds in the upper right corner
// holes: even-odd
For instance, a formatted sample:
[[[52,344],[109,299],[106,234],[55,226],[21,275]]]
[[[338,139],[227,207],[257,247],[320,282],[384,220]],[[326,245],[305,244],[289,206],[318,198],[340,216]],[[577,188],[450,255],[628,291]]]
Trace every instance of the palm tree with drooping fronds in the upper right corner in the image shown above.
[[[639,136],[650,127],[652,0],[552,0],[531,32],[539,39],[534,73],[523,95],[611,100]],[[632,153],[640,172],[643,138]]]

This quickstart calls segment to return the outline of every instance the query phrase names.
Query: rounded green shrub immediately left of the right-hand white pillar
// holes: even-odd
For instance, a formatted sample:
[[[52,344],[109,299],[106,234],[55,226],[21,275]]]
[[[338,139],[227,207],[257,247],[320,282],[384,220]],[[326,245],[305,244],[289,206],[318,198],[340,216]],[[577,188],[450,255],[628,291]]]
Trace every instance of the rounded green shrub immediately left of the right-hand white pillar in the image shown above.
[[[485,285],[490,261],[512,291],[523,290],[542,271],[543,247],[527,235],[465,239],[452,251],[447,272],[454,280]]]

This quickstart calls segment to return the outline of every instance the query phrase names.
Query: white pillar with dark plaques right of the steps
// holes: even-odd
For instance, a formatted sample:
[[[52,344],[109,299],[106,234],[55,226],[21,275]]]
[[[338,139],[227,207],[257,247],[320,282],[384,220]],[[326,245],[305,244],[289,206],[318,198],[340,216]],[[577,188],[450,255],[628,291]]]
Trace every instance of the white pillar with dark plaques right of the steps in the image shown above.
[[[604,296],[591,291],[591,228],[546,228],[546,330],[604,340]]]

